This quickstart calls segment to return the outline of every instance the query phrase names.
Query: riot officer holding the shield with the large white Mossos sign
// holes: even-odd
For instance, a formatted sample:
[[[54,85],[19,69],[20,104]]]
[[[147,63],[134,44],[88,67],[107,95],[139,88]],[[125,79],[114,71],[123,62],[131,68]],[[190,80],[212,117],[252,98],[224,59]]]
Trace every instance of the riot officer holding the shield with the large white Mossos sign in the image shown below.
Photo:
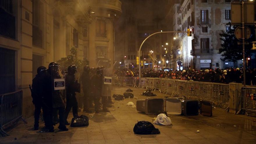
[[[61,79],[61,76],[58,73],[58,64],[51,62],[48,66],[48,73],[51,75],[51,90],[52,90],[52,107],[53,111],[58,111],[59,114],[59,127],[63,131],[68,131],[67,127],[65,126],[65,106],[63,100],[65,97],[62,97],[59,90],[54,90],[54,79]]]

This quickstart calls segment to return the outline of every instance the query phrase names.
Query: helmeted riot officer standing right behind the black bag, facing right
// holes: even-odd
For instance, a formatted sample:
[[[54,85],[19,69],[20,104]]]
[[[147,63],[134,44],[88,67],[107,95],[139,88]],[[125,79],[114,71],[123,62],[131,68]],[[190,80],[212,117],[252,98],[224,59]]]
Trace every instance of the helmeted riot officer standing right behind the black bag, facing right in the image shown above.
[[[73,116],[78,115],[78,104],[77,104],[77,99],[76,99],[76,81],[75,81],[75,73],[77,72],[77,66],[76,65],[70,65],[67,68],[67,75],[66,75],[66,98],[67,98],[67,106],[65,109],[65,121],[66,125],[69,125],[67,122],[67,116],[68,113],[71,110],[72,107],[72,112]]]

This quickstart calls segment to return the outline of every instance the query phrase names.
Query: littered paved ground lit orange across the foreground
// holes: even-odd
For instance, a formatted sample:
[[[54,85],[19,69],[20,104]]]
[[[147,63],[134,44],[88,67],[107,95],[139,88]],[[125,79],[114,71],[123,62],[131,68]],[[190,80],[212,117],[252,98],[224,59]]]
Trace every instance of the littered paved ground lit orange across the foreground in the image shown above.
[[[112,94],[123,94],[128,88],[116,87]],[[139,95],[145,89],[131,88],[138,99],[147,97]],[[164,97],[164,94],[154,92],[156,97]],[[136,111],[128,102],[134,102],[135,98],[115,101],[110,112],[83,113],[89,117],[88,127],[73,128],[68,126],[69,131],[59,131],[58,124],[53,133],[37,133],[33,131],[33,117],[27,120],[28,124],[20,121],[19,125],[8,131],[10,136],[0,137],[0,143],[256,143],[256,119],[246,115],[234,115],[224,109],[213,109],[213,116],[202,115],[185,117],[182,115],[169,115],[172,125],[155,125],[161,131],[157,135],[137,135],[133,127],[137,121],[145,120],[152,122],[155,115],[145,115]],[[92,109],[93,110],[93,109]],[[69,114],[69,121],[72,113]],[[43,127],[40,122],[40,128]],[[200,132],[196,132],[199,130]]]

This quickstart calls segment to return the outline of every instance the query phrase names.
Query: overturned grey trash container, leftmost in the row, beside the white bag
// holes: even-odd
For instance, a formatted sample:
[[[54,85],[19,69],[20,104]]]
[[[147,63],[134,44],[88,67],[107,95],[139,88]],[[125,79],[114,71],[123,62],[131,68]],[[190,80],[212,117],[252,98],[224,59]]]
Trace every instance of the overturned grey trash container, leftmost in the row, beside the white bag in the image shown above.
[[[155,114],[159,111],[163,111],[164,100],[162,98],[147,98],[143,100],[137,100],[137,111],[141,111],[147,115]]]

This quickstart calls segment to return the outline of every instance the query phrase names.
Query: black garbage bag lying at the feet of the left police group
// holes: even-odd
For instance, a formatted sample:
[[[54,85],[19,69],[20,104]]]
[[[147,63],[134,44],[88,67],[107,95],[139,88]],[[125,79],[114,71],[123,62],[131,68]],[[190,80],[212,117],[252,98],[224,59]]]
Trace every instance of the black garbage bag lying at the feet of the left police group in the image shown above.
[[[89,118],[85,115],[72,118],[70,127],[84,127],[89,125]]]

